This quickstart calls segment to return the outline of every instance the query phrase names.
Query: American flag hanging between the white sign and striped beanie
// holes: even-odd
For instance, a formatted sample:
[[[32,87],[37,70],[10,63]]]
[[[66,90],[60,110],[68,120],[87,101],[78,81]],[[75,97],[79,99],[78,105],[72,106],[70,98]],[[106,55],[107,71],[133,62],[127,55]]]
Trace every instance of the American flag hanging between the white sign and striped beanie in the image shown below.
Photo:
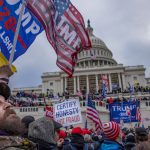
[[[92,97],[88,97],[87,101],[87,112],[86,112],[87,118],[92,120],[95,123],[95,130],[103,130],[102,122],[99,118],[98,111],[96,110],[96,107],[94,105],[94,102],[92,101]]]

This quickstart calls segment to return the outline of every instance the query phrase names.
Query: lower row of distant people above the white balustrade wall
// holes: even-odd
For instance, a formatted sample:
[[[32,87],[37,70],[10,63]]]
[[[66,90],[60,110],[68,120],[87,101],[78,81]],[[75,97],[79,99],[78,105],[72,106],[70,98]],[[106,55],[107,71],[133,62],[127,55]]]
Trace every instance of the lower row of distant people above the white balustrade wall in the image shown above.
[[[16,107],[37,107],[37,106],[45,106],[47,104],[49,104],[51,102],[51,104],[53,102],[61,102],[63,101],[64,99],[68,99],[68,98],[78,98],[80,101],[85,101],[86,98],[83,100],[83,99],[80,99],[81,95],[76,95],[75,97],[72,97],[70,95],[67,95],[67,97],[61,97],[61,98],[56,98],[56,99],[49,99],[47,97],[42,97],[42,98],[34,98],[32,99],[31,97],[24,97],[24,96],[11,96],[10,97],[10,103],[13,105],[13,106],[16,106]],[[83,97],[83,96],[82,96]],[[150,96],[149,97],[107,97],[105,99],[99,99],[97,98],[95,95],[92,95],[92,100],[94,102],[99,102],[99,106],[107,106],[110,104],[110,103],[114,103],[114,102],[127,102],[127,101],[132,101],[132,100],[139,100],[139,101],[147,101],[147,100],[150,100]],[[148,102],[146,102],[148,103]],[[96,104],[96,103],[95,103]]]

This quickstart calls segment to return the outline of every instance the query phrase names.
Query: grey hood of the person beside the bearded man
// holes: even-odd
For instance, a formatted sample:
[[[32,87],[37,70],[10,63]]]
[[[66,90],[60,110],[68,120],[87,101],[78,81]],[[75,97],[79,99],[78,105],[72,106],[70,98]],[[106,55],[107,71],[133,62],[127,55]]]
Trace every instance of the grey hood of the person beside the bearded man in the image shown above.
[[[29,138],[31,137],[43,140],[47,143],[56,144],[53,120],[47,117],[42,117],[30,123],[28,136]]]

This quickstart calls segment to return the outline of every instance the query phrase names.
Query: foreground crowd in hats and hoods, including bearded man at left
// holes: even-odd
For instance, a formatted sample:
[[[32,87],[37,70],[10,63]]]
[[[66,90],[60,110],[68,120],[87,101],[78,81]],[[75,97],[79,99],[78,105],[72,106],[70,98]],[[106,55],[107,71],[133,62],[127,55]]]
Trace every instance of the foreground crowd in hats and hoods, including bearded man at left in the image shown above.
[[[143,127],[120,129],[111,121],[95,131],[64,128],[46,116],[21,119],[8,101],[11,91],[4,73],[8,77],[9,69],[0,70],[0,150],[150,150],[149,130]]]

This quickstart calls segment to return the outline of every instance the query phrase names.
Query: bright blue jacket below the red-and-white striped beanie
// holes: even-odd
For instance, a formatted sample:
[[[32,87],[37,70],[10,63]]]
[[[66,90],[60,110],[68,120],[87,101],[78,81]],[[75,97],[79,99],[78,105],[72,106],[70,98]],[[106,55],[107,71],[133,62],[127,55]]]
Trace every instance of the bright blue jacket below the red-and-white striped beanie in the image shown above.
[[[98,150],[125,150],[123,145],[116,141],[104,140]]]

